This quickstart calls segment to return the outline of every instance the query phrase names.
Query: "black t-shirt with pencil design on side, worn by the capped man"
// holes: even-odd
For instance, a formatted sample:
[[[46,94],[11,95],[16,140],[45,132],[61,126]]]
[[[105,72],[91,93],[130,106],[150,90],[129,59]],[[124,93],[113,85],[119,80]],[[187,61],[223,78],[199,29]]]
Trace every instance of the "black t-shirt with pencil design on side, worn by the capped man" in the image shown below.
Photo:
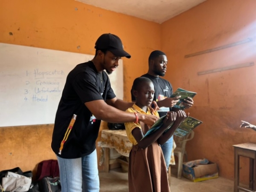
[[[80,158],[92,153],[101,120],[96,120],[84,103],[115,97],[104,71],[98,73],[91,61],[78,64],[69,72],[60,98],[53,129],[53,151],[61,158]]]

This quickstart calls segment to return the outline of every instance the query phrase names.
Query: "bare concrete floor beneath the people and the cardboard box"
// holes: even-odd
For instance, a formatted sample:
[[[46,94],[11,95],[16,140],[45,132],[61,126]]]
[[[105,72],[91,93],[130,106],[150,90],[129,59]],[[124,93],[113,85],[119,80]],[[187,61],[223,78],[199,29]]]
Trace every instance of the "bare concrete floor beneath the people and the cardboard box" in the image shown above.
[[[177,170],[172,168],[171,192],[233,192],[233,181],[218,177],[201,182],[192,182],[182,177],[177,179]],[[120,168],[111,169],[109,173],[101,172],[100,192],[128,192],[128,173]]]

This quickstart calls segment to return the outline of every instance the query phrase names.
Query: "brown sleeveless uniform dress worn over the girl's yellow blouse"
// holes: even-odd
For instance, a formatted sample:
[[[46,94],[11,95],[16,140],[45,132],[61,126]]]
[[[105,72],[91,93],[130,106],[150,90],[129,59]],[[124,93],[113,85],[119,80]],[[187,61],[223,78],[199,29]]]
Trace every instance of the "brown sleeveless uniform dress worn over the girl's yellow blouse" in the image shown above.
[[[149,128],[139,122],[145,134]],[[129,155],[129,192],[170,192],[166,163],[158,142],[142,149],[133,145]]]

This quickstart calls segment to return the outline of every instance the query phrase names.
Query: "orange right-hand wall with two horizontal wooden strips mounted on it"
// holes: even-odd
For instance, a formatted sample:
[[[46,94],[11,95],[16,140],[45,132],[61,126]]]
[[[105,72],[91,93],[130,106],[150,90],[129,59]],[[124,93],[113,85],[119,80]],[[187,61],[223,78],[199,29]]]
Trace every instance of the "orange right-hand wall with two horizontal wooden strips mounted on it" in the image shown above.
[[[207,158],[222,177],[233,179],[234,144],[256,143],[256,132],[239,128],[256,124],[256,65],[198,75],[198,72],[247,62],[256,63],[256,1],[207,0],[162,23],[165,76],[174,89],[195,91],[192,117],[203,121],[187,144],[188,160]],[[251,42],[211,53],[185,55],[252,38]],[[248,182],[248,159],[241,160],[241,180]]]

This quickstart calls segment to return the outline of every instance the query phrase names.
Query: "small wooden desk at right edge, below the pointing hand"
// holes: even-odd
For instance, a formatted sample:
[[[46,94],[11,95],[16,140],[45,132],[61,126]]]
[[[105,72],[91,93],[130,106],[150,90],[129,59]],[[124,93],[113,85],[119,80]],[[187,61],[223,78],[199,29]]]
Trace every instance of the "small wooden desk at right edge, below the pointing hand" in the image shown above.
[[[243,143],[233,145],[234,147],[234,192],[256,191],[256,143]],[[249,188],[243,188],[239,186],[239,160],[240,156],[250,159],[249,164]]]

